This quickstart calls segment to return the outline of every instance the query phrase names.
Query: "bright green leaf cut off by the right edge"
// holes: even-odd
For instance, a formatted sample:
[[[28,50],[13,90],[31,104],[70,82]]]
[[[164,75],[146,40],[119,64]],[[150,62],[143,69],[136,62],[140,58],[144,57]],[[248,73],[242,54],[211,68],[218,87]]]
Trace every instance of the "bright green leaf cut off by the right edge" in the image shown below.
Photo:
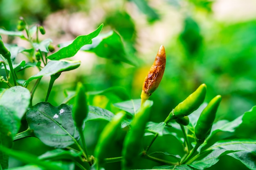
[[[237,127],[235,134],[241,138],[249,137],[256,139],[256,106],[252,107],[250,111],[245,112],[242,120],[243,122]]]

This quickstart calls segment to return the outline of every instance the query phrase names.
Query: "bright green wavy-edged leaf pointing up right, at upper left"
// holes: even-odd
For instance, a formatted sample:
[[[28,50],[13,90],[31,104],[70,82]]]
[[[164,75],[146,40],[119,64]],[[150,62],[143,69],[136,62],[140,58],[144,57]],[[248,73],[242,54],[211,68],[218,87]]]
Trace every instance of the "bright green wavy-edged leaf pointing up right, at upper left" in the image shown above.
[[[97,37],[97,35],[99,35],[102,28],[103,28],[103,24],[101,24],[97,28],[97,30],[95,30],[94,32],[92,32],[88,35],[80,35],[80,36],[76,37],[76,39],[74,39],[72,44],[61,48],[57,52],[49,55],[47,58],[51,59],[51,60],[60,60],[60,59],[64,59],[67,57],[73,57],[82,46],[84,46],[85,44],[92,44],[92,39],[94,37]]]

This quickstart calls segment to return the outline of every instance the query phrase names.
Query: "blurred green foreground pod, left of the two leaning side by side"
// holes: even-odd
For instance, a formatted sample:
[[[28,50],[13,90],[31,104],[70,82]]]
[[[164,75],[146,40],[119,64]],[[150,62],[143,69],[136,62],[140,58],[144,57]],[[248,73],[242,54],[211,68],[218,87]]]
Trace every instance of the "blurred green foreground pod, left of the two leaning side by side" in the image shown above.
[[[108,147],[115,142],[118,130],[121,129],[121,122],[124,116],[125,112],[123,111],[117,113],[103,129],[94,150],[94,156],[99,166],[102,166],[104,163],[104,158],[108,158],[108,153],[110,152]]]

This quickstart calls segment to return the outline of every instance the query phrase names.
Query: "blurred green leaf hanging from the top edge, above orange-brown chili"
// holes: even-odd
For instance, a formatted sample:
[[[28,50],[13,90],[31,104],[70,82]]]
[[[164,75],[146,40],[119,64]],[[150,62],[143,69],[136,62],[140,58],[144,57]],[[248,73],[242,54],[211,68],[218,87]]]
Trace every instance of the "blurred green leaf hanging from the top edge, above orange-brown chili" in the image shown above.
[[[147,15],[149,22],[154,22],[155,20],[159,20],[159,15],[155,12],[153,8],[151,8],[146,0],[130,0],[134,2],[138,9]]]

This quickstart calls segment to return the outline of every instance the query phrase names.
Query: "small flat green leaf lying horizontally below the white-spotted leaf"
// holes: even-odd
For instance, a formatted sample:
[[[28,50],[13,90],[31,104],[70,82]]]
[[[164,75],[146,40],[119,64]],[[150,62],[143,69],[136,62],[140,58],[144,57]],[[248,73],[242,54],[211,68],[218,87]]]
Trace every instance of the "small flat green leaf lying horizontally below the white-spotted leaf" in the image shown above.
[[[40,155],[39,159],[74,159],[75,157],[79,157],[82,153],[76,153],[74,150],[63,150],[63,149],[54,149],[47,151],[43,155]]]

